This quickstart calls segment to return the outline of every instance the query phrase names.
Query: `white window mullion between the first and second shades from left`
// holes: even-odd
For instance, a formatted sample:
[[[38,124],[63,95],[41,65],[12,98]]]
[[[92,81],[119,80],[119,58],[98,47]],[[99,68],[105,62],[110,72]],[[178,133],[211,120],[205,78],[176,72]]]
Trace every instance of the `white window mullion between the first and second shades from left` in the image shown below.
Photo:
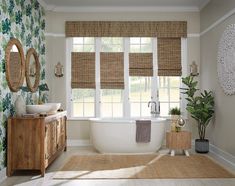
[[[100,51],[101,51],[101,38],[95,38],[95,78],[96,78],[96,91],[95,91],[95,117],[100,117]]]

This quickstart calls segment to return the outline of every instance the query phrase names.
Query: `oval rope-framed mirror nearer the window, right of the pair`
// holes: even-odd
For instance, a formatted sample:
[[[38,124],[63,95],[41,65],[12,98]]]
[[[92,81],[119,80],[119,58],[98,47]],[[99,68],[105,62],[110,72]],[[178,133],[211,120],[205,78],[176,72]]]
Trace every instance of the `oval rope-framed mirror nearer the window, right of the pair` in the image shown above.
[[[40,63],[34,48],[30,48],[26,54],[25,76],[28,89],[35,92],[40,81]]]

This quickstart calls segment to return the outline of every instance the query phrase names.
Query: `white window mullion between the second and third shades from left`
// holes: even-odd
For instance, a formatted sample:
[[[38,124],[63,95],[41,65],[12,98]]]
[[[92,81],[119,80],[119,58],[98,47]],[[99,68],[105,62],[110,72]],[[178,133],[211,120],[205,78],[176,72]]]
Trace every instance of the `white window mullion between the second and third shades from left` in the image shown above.
[[[123,111],[124,117],[130,117],[130,99],[129,99],[129,52],[130,52],[130,38],[124,38],[124,96],[123,96]]]

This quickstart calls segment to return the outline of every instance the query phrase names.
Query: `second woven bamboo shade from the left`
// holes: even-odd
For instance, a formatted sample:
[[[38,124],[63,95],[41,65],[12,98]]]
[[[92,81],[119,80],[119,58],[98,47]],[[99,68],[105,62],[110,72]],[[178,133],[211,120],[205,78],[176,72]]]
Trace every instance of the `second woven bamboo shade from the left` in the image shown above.
[[[100,53],[101,89],[124,89],[124,53]]]

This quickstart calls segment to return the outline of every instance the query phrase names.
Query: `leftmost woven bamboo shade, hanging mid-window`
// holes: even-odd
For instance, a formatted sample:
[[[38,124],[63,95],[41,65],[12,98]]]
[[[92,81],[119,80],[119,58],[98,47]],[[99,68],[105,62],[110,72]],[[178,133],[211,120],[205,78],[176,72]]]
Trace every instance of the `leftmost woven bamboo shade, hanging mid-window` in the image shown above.
[[[72,52],[72,88],[95,88],[95,53]]]

